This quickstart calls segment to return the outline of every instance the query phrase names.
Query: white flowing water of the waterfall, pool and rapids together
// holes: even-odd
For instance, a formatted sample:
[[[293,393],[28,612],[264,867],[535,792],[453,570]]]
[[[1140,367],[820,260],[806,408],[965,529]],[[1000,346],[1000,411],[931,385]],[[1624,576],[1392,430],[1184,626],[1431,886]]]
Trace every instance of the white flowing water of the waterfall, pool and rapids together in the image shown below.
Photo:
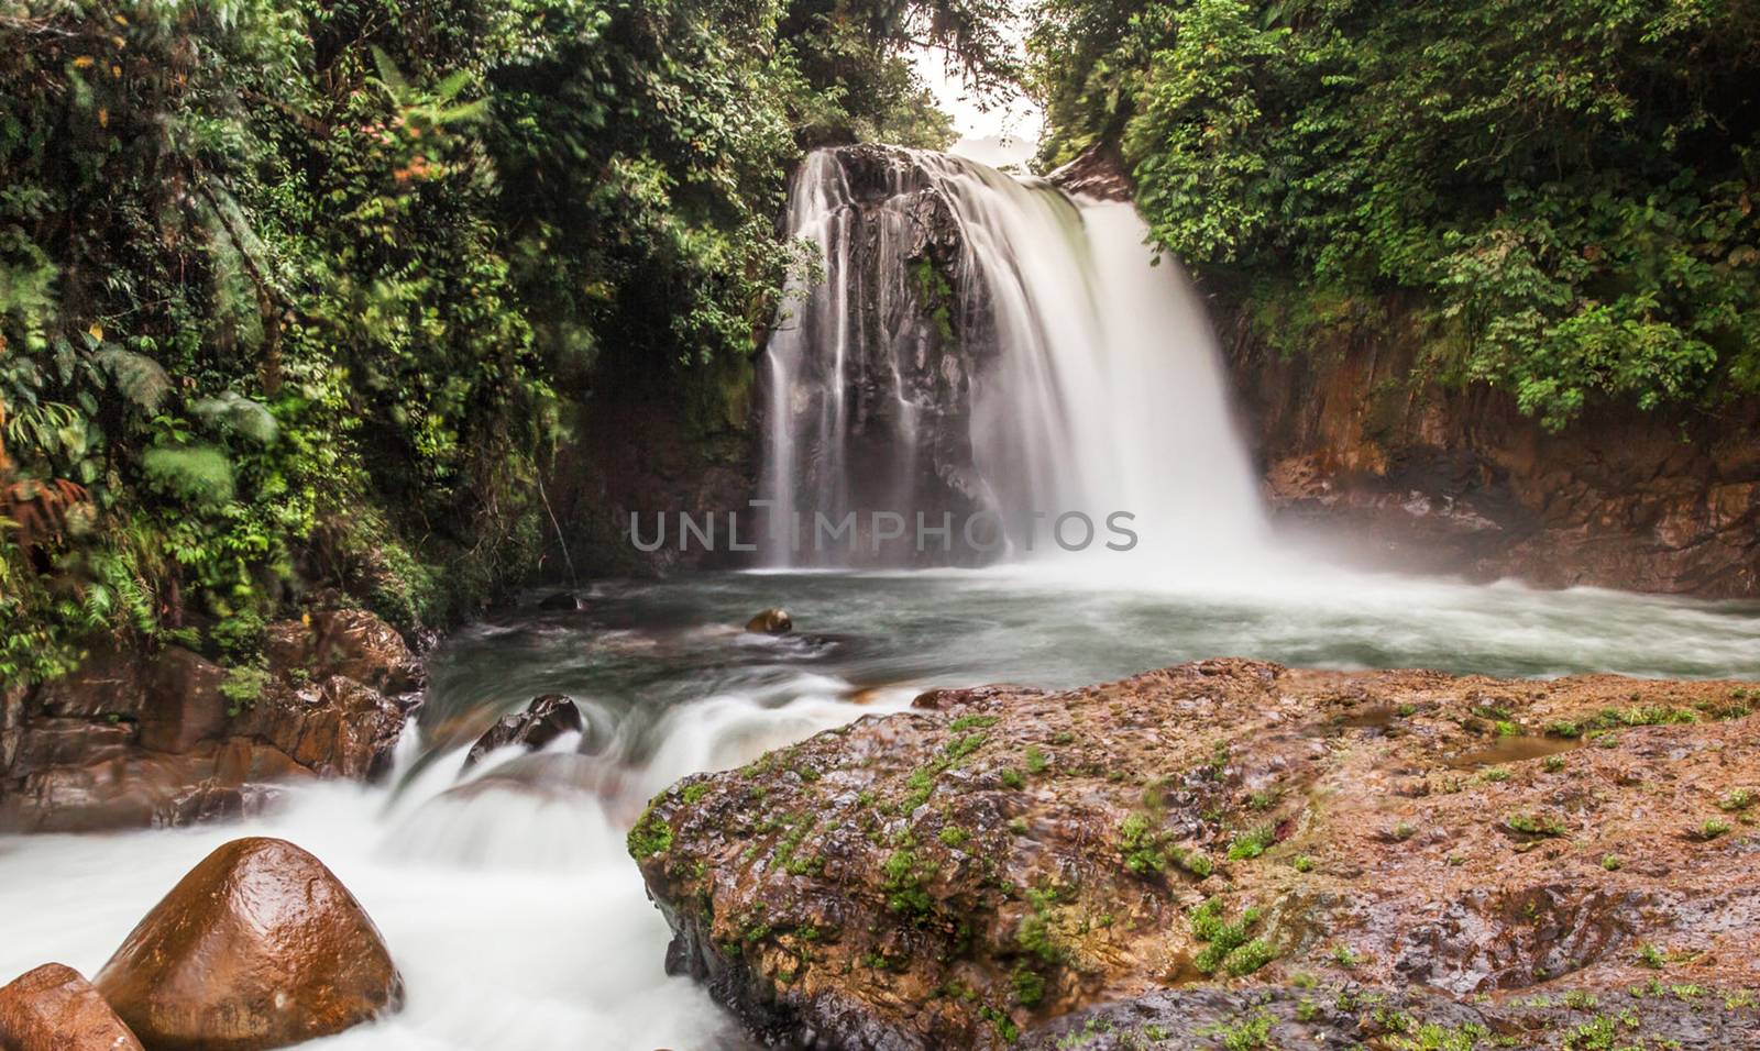
[[[885,178],[928,193],[922,207],[952,207],[970,246],[949,257],[966,285],[954,304],[973,313],[956,323],[994,327],[994,353],[924,387],[954,374],[931,353],[938,334],[882,309],[908,292],[908,253],[876,228],[908,216],[889,193],[866,213],[836,206],[857,188],[815,155],[794,223],[838,279],[773,346],[767,492],[796,510],[1135,510],[1140,550],[704,573],[602,583],[579,612],[509,612],[433,656],[428,705],[384,786],[290,789],[231,826],[0,838],[0,977],[48,960],[95,974],[208,851],[278,835],[354,889],[408,986],[401,1014],[324,1046],[746,1047],[706,993],[664,974],[665,923],[623,847],[642,803],[685,773],[899,710],[931,685],[1061,687],[1230,654],[1760,678],[1751,603],[1348,573],[1269,548],[1200,313],[1170,264],[1149,265],[1130,209],[910,156]],[[857,221],[878,227],[852,237]],[[857,244],[889,262],[857,258]],[[896,341],[852,336],[861,315],[894,316]],[[796,634],[737,627],[771,605],[794,613]],[[461,773],[475,733],[542,692],[570,694],[588,729]]]

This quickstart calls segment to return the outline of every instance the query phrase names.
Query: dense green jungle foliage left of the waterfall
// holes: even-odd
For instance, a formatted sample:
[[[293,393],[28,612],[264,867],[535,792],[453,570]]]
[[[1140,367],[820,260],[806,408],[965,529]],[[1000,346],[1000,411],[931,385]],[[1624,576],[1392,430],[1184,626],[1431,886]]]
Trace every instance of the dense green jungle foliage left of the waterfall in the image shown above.
[[[12,5],[0,682],[107,631],[248,663],[304,591],[414,627],[532,573],[586,392],[725,422],[810,262],[774,225],[801,146],[945,141],[905,47],[994,83],[998,11]]]

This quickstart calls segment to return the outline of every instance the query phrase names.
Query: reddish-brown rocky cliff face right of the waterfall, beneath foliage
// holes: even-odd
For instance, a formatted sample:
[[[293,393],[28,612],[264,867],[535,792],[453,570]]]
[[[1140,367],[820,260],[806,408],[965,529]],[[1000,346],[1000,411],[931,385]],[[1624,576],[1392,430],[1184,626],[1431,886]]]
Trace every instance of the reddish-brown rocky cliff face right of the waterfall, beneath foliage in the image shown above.
[[[1412,344],[1283,357],[1213,299],[1272,506],[1396,566],[1705,598],[1760,596],[1760,402],[1591,406],[1561,434],[1485,387],[1413,385]]]

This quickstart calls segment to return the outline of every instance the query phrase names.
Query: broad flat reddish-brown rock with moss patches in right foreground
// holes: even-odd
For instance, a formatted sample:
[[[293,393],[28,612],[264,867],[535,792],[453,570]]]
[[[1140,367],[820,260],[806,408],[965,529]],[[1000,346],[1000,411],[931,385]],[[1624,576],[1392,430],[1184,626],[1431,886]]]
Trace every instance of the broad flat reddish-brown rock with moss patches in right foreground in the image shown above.
[[[1206,661],[936,691],[679,782],[630,849],[669,965],[783,1046],[1001,1047],[1297,975],[1427,986],[1443,1021],[1653,977],[1744,989],[1749,689]]]

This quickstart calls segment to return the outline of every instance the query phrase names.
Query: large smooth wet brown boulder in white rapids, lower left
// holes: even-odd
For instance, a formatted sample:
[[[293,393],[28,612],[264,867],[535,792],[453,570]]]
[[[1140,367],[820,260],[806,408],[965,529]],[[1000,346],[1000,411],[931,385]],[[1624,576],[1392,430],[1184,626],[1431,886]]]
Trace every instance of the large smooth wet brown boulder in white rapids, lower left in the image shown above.
[[[155,1051],[285,1047],[403,1002],[403,979],[354,895],[276,838],[234,840],[202,859],[95,984]]]

